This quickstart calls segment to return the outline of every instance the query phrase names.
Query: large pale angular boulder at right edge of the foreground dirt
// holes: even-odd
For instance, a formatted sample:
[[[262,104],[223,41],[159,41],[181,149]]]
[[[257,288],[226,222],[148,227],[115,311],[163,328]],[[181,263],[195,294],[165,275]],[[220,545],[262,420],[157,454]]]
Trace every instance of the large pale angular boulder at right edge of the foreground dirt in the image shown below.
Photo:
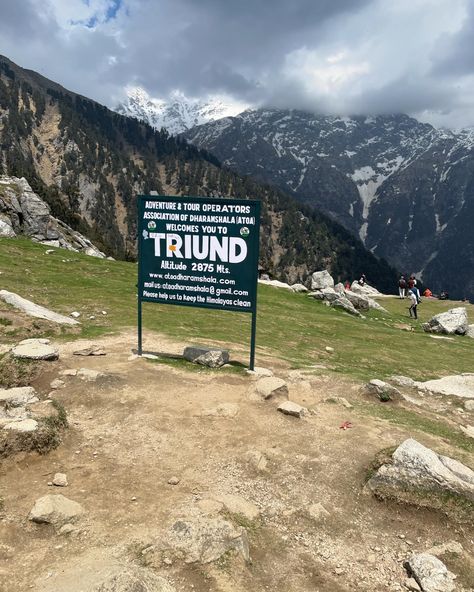
[[[411,492],[428,507],[433,505],[436,494],[442,499],[449,494],[474,501],[474,471],[411,438],[395,450],[392,463],[382,465],[367,485],[380,497],[405,500],[405,494]]]

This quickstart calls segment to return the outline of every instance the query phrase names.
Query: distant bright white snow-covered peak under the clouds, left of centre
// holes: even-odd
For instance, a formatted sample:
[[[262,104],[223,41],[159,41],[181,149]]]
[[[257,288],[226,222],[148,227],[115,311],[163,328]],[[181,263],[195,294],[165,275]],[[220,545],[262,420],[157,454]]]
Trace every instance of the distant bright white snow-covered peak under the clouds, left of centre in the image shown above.
[[[246,108],[247,105],[217,96],[206,101],[191,99],[179,91],[171,93],[168,100],[156,99],[143,88],[133,87],[127,89],[126,99],[119,103],[115,111],[177,135],[197,125],[237,115]]]

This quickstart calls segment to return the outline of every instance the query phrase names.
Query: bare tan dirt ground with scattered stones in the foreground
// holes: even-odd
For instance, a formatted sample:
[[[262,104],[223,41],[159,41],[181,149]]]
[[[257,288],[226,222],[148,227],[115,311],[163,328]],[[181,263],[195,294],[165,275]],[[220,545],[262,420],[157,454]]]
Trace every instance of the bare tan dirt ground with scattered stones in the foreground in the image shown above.
[[[259,400],[255,377],[131,359],[134,342],[132,332],[96,340],[107,352],[103,357],[73,355],[91,342],[59,344],[59,361],[35,381],[46,397],[50,382],[66,368],[105,373],[95,382],[61,377],[65,385],[54,397],[66,408],[70,427],[59,448],[2,462],[2,592],[43,590],[66,568],[90,564],[94,570],[108,558],[148,565],[177,591],[196,592],[405,590],[403,561],[410,552],[449,540],[463,545],[462,569],[466,562],[472,566],[473,537],[465,527],[364,491],[376,453],[411,434],[335,402],[360,400],[360,384],[325,374],[324,368],[291,370],[261,356],[258,365],[285,379],[290,399],[311,411],[297,419],[278,413],[275,402]],[[153,351],[181,352],[183,345],[147,336]],[[233,353],[239,360],[241,353]],[[222,403],[235,404],[235,415],[209,414]],[[340,429],[344,421],[354,427]],[[429,435],[418,439],[452,452]],[[254,451],[268,460],[265,470],[249,461]],[[67,488],[48,485],[55,472],[67,474]],[[179,483],[170,485],[171,477]],[[75,532],[60,535],[28,521],[35,500],[48,493],[84,506]],[[237,494],[260,510],[257,520],[242,524],[250,562],[230,557],[186,565],[142,553],[200,500],[219,494]],[[315,503],[329,515],[311,518],[308,508]],[[468,589],[469,576],[458,575]],[[68,591],[57,588],[82,589],[81,582]]]

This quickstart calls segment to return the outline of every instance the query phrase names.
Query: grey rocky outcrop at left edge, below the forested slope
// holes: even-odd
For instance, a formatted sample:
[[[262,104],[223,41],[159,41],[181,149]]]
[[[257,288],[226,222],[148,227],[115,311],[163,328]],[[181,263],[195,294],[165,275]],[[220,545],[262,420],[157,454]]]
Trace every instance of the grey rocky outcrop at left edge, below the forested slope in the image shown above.
[[[27,236],[50,247],[105,255],[89,239],[51,216],[46,204],[26,179],[0,176],[0,237]]]

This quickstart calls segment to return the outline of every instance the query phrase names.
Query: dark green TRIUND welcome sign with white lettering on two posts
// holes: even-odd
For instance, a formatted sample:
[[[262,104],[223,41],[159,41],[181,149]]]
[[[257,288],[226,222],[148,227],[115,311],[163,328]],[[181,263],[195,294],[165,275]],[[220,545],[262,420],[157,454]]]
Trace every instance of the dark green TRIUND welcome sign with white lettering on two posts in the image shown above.
[[[138,354],[142,302],[252,314],[255,365],[260,202],[138,197]]]

